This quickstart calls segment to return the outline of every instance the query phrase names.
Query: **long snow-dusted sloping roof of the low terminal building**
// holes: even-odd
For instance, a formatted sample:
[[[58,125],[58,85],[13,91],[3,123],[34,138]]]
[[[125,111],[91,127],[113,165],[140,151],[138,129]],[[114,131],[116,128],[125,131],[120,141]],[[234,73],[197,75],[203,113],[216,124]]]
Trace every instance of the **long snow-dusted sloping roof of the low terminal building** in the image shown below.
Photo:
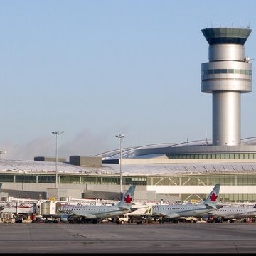
[[[100,167],[75,166],[58,163],[58,172],[65,174],[119,174],[119,164],[102,164]],[[55,162],[0,160],[0,174],[6,171],[55,172]],[[236,171],[256,171],[256,163],[221,164],[122,164],[124,176],[206,174]]]

